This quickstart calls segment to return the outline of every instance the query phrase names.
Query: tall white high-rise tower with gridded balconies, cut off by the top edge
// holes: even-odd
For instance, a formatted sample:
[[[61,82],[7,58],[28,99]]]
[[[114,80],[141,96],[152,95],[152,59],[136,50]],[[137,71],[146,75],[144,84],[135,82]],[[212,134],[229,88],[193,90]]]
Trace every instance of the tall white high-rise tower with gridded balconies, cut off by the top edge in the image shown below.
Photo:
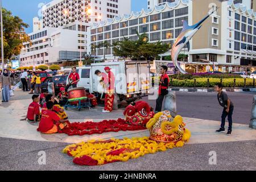
[[[80,20],[99,22],[130,12],[131,0],[53,0],[43,6],[43,24],[57,28]]]

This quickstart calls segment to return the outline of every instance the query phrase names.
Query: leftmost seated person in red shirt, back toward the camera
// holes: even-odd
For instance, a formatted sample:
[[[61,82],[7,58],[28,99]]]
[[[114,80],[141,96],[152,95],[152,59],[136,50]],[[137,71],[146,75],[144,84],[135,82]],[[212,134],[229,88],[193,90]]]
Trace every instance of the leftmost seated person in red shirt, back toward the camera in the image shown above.
[[[39,121],[40,109],[39,109],[39,96],[33,95],[32,96],[33,102],[28,106],[27,109],[27,119],[31,122]]]

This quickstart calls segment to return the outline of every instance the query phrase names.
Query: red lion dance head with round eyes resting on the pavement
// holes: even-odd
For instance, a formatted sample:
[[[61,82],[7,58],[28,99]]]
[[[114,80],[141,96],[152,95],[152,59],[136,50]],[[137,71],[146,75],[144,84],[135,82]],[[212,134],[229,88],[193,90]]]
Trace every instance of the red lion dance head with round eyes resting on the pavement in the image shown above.
[[[154,117],[154,111],[151,111],[147,102],[139,101],[127,106],[123,115],[126,117],[126,122],[132,125],[146,126],[147,122]]]

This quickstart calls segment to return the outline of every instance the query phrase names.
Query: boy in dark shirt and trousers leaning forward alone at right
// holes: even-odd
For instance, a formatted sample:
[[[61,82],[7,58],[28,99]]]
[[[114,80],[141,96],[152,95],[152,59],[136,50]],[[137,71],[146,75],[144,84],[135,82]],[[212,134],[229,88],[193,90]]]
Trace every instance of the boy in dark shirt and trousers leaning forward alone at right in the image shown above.
[[[219,130],[216,131],[216,133],[225,132],[225,122],[226,122],[226,117],[228,117],[229,129],[226,135],[231,135],[232,134],[232,115],[234,111],[234,105],[232,101],[229,99],[228,94],[226,94],[226,92],[223,92],[222,89],[223,89],[222,84],[217,84],[214,87],[215,92],[218,93],[217,94],[218,102],[222,107],[224,107],[221,115],[221,127]]]

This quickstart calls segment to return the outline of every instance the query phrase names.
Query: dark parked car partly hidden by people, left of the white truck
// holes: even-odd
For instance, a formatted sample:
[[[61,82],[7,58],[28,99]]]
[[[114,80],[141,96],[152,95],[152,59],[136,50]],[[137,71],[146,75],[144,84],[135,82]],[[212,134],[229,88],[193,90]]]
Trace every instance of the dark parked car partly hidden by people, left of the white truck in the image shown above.
[[[48,89],[48,83],[53,83],[55,94],[60,93],[60,88],[66,86],[67,77],[68,77],[67,75],[66,76],[58,75],[58,76],[47,77],[42,82],[42,90],[47,90]]]

